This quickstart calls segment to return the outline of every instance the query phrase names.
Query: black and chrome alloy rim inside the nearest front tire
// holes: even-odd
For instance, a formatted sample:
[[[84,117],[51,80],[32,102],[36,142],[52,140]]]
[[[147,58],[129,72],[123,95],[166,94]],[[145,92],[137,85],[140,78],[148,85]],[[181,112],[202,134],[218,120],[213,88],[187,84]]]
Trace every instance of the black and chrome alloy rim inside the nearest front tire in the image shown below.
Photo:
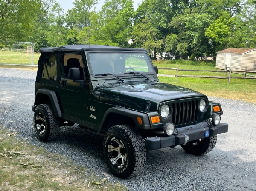
[[[122,168],[127,161],[127,153],[122,140],[113,137],[108,144],[108,158],[112,165],[117,168]]]

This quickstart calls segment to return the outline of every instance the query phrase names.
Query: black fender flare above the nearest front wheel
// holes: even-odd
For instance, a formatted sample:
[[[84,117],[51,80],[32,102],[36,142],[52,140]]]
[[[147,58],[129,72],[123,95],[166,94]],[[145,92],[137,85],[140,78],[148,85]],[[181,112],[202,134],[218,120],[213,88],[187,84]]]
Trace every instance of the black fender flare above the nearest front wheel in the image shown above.
[[[131,110],[131,109],[127,109],[127,108],[112,107],[112,108],[109,108],[105,112],[105,115],[102,118],[102,122],[99,126],[99,131],[98,131],[99,133],[102,132],[102,129],[104,127],[105,121],[107,120],[108,114],[111,114],[111,113],[131,117],[131,119],[134,121],[136,127],[139,128],[139,129],[143,129],[143,130],[151,129],[151,125],[150,125],[149,118],[148,118],[147,114],[141,113],[141,112],[138,112],[138,111],[134,111],[134,110]],[[137,117],[141,118],[142,123],[143,123],[142,125],[138,122]]]

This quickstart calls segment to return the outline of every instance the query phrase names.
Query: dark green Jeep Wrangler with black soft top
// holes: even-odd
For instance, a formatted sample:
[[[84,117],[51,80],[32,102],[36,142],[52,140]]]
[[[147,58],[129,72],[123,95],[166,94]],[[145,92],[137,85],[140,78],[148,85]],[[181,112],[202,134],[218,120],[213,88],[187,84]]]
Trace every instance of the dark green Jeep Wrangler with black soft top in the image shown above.
[[[33,105],[35,132],[43,141],[60,126],[105,134],[103,154],[113,174],[136,175],[146,150],[181,147],[206,154],[217,134],[221,105],[204,94],[160,83],[147,51],[113,46],[69,45],[42,48]],[[156,159],[157,160],[157,159]]]

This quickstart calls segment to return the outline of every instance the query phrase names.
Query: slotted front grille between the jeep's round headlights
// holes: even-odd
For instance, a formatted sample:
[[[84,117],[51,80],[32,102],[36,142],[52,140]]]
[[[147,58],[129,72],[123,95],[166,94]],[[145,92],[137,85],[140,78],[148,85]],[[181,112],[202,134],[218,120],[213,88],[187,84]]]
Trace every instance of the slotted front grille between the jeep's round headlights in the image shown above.
[[[198,100],[172,103],[172,123],[185,125],[195,123],[198,117]]]

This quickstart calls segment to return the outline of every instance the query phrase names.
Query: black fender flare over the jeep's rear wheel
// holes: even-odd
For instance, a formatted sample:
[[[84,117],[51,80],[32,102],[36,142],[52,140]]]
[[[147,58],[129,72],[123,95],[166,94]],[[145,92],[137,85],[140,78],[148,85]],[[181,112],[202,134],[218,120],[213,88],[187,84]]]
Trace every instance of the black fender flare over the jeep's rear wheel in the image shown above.
[[[38,94],[45,94],[49,97],[51,104],[52,104],[52,108],[54,111],[54,114],[56,117],[62,117],[61,115],[61,108],[60,105],[58,104],[58,98],[55,94],[54,91],[49,90],[49,89],[39,89],[36,94],[35,94],[35,105],[38,105],[38,101],[37,101],[37,95]]]

